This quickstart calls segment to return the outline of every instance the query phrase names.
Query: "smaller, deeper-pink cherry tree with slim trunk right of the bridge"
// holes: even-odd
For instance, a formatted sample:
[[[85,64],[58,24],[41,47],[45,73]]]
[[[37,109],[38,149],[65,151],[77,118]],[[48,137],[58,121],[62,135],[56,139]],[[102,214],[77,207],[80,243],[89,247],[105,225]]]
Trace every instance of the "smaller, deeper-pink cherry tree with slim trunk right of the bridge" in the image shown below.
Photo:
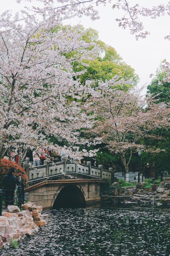
[[[151,95],[143,97],[142,89],[133,88],[128,92],[112,89],[117,77],[101,84],[91,99],[91,111],[97,116],[92,134],[101,137],[107,148],[120,156],[125,171],[139,147],[155,151],[141,145],[144,137],[155,138],[151,131],[169,126],[170,110],[163,104],[156,104]],[[156,137],[158,139],[158,137]],[[158,152],[159,149],[156,149]],[[128,159],[128,161],[127,161]]]

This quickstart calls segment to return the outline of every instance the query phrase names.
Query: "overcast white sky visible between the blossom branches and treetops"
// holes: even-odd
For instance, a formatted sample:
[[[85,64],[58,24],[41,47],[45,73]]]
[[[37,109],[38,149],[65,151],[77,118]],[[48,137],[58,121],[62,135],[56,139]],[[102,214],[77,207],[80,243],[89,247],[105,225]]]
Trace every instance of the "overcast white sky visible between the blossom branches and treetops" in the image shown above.
[[[129,0],[130,3],[142,3],[143,6],[151,7],[160,3],[166,4],[167,0]],[[27,2],[28,4],[28,2]],[[32,5],[37,6],[39,3],[33,1]],[[12,9],[14,12],[21,9],[25,2],[16,4],[15,0],[6,0],[0,3],[0,12],[6,9]],[[135,72],[140,77],[139,86],[142,86],[151,81],[149,75],[155,74],[163,59],[170,61],[170,42],[164,39],[164,36],[169,34],[170,17],[159,17],[155,20],[142,17],[145,29],[150,31],[150,35],[146,39],[135,40],[134,35],[130,35],[128,29],[123,30],[118,27],[116,18],[123,16],[121,11],[112,10],[112,4],[99,6],[97,10],[100,14],[100,19],[91,21],[88,17],[73,18],[67,20],[66,24],[76,25],[81,23],[85,28],[92,27],[99,31],[100,40],[108,45],[111,45],[120,54],[123,60],[135,69]]]

